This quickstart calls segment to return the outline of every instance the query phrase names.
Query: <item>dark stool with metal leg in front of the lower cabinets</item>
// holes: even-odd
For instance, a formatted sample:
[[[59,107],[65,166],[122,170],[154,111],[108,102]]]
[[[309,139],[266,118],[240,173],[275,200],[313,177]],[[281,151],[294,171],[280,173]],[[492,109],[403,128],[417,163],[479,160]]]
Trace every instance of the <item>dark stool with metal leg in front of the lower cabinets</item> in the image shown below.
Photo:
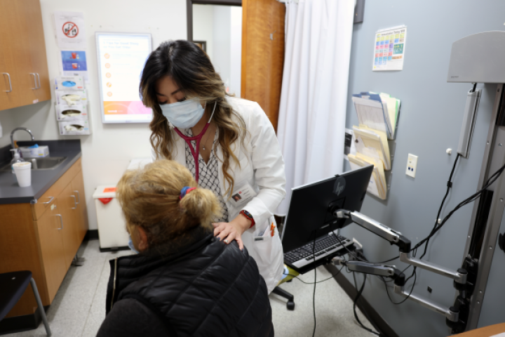
[[[13,306],[18,303],[18,300],[27,289],[29,283],[32,284],[37,306],[39,307],[38,310],[42,317],[43,324],[46,326],[47,335],[51,336],[39,291],[36,289],[35,280],[32,278],[32,272],[27,270],[0,274],[0,321],[4,319]]]

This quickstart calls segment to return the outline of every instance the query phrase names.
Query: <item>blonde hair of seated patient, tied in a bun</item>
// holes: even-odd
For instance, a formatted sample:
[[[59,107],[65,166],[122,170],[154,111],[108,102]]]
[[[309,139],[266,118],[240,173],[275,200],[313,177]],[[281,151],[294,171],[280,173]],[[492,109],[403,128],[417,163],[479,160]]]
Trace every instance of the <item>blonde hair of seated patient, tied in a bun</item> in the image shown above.
[[[201,187],[180,199],[183,187],[197,187],[191,173],[172,160],[158,160],[144,169],[126,171],[117,185],[117,198],[128,225],[142,227],[149,248],[182,239],[198,226],[212,228],[221,216],[215,194]]]

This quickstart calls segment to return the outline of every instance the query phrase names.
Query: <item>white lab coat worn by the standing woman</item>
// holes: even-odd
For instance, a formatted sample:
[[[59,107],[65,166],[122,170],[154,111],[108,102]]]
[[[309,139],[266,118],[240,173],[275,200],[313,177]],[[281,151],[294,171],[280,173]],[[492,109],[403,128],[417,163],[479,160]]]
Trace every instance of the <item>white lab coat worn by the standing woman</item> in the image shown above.
[[[248,130],[244,140],[244,147],[238,142],[231,145],[240,161],[240,169],[235,161],[230,159],[229,173],[234,178],[234,192],[249,183],[257,192],[247,204],[240,207],[234,205],[234,200],[225,195],[228,185],[222,173],[222,161],[219,163],[219,177],[222,197],[228,208],[228,218],[233,220],[242,209],[246,209],[255,219],[256,225],[243,233],[242,240],[250,256],[255,259],[260,274],[267,283],[269,293],[281,280],[283,273],[283,249],[277,228],[274,237],[270,234],[259,239],[259,234],[267,230],[271,223],[275,224],[274,211],[285,197],[285,172],[281,147],[267,115],[260,105],[241,98],[228,98],[234,110],[241,115]],[[186,142],[173,132],[175,152],[173,159],[186,166]],[[221,147],[217,147],[218,159],[223,159]],[[152,151],[153,160],[156,153]],[[232,193],[235,194],[235,193]],[[256,239],[255,239],[256,237]]]

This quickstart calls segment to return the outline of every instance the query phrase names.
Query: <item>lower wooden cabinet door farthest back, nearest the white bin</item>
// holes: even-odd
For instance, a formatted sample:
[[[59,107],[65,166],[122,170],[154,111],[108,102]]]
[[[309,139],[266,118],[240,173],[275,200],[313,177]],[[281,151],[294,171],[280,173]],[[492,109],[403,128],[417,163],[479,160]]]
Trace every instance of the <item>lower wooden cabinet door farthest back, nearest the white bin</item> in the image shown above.
[[[78,226],[74,218],[76,210],[74,194],[72,193],[72,184],[68,184],[65,190],[58,195],[58,206],[63,221],[63,248],[65,249],[65,261],[67,269],[72,264],[72,260],[77,253],[81,242],[77,234]]]

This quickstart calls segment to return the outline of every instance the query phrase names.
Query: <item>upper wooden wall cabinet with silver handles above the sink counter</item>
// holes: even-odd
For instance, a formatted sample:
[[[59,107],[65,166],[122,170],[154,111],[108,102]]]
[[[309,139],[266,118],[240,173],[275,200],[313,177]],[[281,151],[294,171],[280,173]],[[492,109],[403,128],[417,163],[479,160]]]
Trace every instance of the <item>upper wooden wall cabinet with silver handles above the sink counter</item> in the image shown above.
[[[39,0],[0,1],[0,110],[50,100]]]

